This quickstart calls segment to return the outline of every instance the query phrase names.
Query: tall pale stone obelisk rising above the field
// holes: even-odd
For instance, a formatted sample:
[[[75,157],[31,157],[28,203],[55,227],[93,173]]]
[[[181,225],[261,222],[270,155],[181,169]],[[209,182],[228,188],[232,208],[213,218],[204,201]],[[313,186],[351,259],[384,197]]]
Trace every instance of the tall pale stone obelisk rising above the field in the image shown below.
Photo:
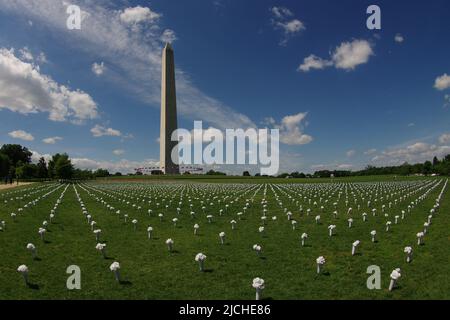
[[[175,90],[175,61],[172,46],[167,43],[162,53],[161,77],[161,132],[159,137],[159,166],[165,174],[179,174],[180,168],[172,159],[172,149],[177,141],[172,141],[172,132],[178,129],[177,97]],[[178,152],[176,153],[178,156]],[[172,161],[175,160],[175,161]]]

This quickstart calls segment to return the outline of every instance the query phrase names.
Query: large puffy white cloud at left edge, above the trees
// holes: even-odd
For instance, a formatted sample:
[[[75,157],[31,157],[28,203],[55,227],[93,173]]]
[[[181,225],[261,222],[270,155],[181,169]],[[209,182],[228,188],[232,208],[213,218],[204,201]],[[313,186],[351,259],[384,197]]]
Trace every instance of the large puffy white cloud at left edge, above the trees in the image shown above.
[[[22,114],[46,112],[53,121],[83,121],[98,116],[87,93],[59,85],[38,66],[20,60],[14,50],[0,48],[0,109]]]

